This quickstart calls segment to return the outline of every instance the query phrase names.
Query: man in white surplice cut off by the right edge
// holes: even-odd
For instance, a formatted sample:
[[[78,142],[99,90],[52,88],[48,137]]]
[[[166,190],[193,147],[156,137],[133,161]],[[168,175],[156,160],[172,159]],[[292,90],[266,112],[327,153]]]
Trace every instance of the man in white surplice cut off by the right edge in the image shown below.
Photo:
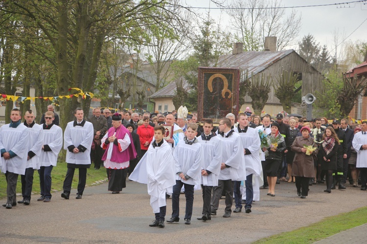
[[[357,152],[357,164],[361,176],[361,190],[367,189],[367,121],[363,121],[362,131],[357,132],[353,138],[353,148]]]

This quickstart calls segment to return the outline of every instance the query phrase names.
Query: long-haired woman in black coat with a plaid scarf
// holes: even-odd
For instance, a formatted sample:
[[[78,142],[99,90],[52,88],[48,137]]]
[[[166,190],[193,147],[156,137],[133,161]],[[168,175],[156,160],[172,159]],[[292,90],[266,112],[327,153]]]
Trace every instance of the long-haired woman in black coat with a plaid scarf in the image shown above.
[[[326,190],[324,192],[331,193],[333,172],[337,169],[337,152],[340,142],[334,128],[331,126],[325,129],[322,140],[323,142],[319,147],[318,161],[321,164],[321,170],[327,170]]]

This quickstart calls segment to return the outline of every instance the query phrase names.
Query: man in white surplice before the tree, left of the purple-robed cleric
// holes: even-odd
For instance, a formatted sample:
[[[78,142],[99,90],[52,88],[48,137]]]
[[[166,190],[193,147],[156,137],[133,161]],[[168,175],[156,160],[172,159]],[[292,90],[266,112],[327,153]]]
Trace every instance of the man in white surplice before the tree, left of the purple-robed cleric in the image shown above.
[[[84,120],[82,108],[75,109],[75,120],[67,124],[64,133],[66,153],[66,172],[61,197],[69,199],[74,171],[79,169],[78,192],[76,199],[81,199],[87,181],[87,168],[91,166],[91,146],[93,141],[93,124]]]

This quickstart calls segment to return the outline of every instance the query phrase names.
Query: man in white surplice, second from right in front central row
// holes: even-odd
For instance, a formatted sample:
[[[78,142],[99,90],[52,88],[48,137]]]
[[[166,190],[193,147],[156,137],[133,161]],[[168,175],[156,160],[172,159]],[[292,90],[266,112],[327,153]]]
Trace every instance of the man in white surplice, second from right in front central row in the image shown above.
[[[219,122],[218,138],[222,141],[222,162],[218,186],[215,188],[211,199],[211,215],[216,215],[222,190],[225,190],[226,208],[224,218],[229,218],[232,212],[232,181],[246,180],[246,164],[241,139],[237,133],[234,133],[231,126],[232,124],[228,118],[224,118]]]

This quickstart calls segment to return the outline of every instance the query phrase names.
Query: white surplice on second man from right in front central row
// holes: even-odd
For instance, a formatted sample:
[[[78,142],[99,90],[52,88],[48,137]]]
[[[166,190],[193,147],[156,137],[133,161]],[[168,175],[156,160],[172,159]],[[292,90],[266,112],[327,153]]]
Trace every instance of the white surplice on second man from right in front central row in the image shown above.
[[[246,162],[240,136],[233,132],[229,137],[217,136],[222,141],[222,163],[227,164],[219,174],[219,180],[245,181]]]

